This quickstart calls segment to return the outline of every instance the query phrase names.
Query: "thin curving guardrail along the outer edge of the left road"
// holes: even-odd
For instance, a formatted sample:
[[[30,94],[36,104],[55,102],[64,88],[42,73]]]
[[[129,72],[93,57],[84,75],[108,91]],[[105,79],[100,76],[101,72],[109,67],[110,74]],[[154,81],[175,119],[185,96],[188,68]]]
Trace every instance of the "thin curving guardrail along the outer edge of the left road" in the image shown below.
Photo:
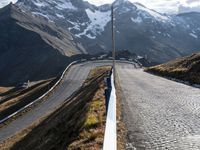
[[[51,91],[53,91],[55,89],[55,87],[62,81],[62,79],[64,78],[65,73],[67,72],[67,70],[74,65],[75,63],[77,63],[77,61],[73,61],[71,64],[69,64],[66,69],[63,71],[60,79],[51,87],[50,90],[48,90],[45,94],[43,94],[42,96],[40,96],[39,98],[37,98],[36,100],[34,100],[33,102],[29,103],[28,105],[20,108],[18,111],[14,112],[13,114],[7,116],[6,118],[0,120],[0,124],[7,121],[8,119],[12,118],[13,116],[15,116],[16,114],[22,112],[23,110],[25,110],[26,108],[30,107],[31,105],[33,105],[34,103],[38,102],[39,100],[43,99],[45,96],[47,96]]]

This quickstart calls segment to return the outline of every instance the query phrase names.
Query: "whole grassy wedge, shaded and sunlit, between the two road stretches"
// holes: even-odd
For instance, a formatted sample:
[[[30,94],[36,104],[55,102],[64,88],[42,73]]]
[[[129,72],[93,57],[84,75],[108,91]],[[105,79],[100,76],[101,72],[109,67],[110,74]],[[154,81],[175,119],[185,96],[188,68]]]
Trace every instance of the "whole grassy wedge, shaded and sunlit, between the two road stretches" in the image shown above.
[[[0,149],[64,150],[68,145],[72,149],[74,142],[79,148],[99,149],[105,124],[105,71],[95,71],[97,76],[90,76],[90,80],[60,108],[1,143]]]

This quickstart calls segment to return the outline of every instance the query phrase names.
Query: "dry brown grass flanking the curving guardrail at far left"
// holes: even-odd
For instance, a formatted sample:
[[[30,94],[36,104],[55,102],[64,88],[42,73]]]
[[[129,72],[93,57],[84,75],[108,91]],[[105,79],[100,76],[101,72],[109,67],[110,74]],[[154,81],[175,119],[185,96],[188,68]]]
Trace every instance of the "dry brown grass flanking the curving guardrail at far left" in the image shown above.
[[[7,115],[12,114],[13,112],[15,112],[15,110],[18,110],[19,108],[29,104],[33,100],[35,100],[38,97],[40,97],[47,90],[49,90],[50,87],[52,87],[55,84],[57,79],[58,78],[51,78],[51,79],[48,79],[48,80],[43,80],[41,82],[38,82],[37,84],[34,84],[33,86],[31,86],[31,87],[29,87],[27,89],[22,90],[22,91],[16,91],[15,89],[8,91],[7,95],[9,95],[9,96],[7,96],[7,99],[4,99],[6,101],[3,102],[3,103],[2,102],[0,103],[0,107],[3,110],[3,111],[0,111],[0,118],[3,118],[5,116],[7,116]],[[3,128],[4,126],[7,126],[11,122],[13,122],[19,116],[22,116],[24,113],[26,113],[28,111],[31,111],[41,101],[46,100],[51,94],[52,93],[49,93],[47,96],[45,96],[40,101],[34,103],[33,105],[31,105],[30,107],[26,108],[22,112],[16,114],[12,118],[10,118],[7,121],[5,121],[3,124],[0,125],[0,129]],[[21,96],[21,95],[24,95],[24,96]],[[16,99],[16,97],[21,97],[21,98]],[[12,100],[13,99],[16,99],[16,102],[14,104],[12,104]],[[10,105],[9,105],[9,103],[10,103]],[[6,104],[8,104],[9,107]],[[6,106],[6,107],[4,107],[4,106]]]

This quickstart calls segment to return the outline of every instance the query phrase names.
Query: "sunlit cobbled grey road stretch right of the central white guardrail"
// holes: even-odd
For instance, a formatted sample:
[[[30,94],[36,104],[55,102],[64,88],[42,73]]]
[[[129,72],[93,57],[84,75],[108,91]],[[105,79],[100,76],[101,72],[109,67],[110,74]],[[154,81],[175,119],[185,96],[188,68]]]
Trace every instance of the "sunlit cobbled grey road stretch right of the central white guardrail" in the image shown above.
[[[117,66],[127,150],[200,150],[200,89]]]

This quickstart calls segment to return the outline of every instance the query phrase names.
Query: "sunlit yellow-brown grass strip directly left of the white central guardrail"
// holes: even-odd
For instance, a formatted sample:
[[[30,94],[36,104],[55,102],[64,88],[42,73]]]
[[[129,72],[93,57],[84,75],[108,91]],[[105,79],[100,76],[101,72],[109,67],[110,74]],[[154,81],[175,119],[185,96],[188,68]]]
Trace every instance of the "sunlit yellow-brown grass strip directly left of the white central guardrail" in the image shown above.
[[[69,150],[100,150],[102,148],[106,122],[104,89],[105,86],[102,83],[89,104],[81,132],[69,145]]]

